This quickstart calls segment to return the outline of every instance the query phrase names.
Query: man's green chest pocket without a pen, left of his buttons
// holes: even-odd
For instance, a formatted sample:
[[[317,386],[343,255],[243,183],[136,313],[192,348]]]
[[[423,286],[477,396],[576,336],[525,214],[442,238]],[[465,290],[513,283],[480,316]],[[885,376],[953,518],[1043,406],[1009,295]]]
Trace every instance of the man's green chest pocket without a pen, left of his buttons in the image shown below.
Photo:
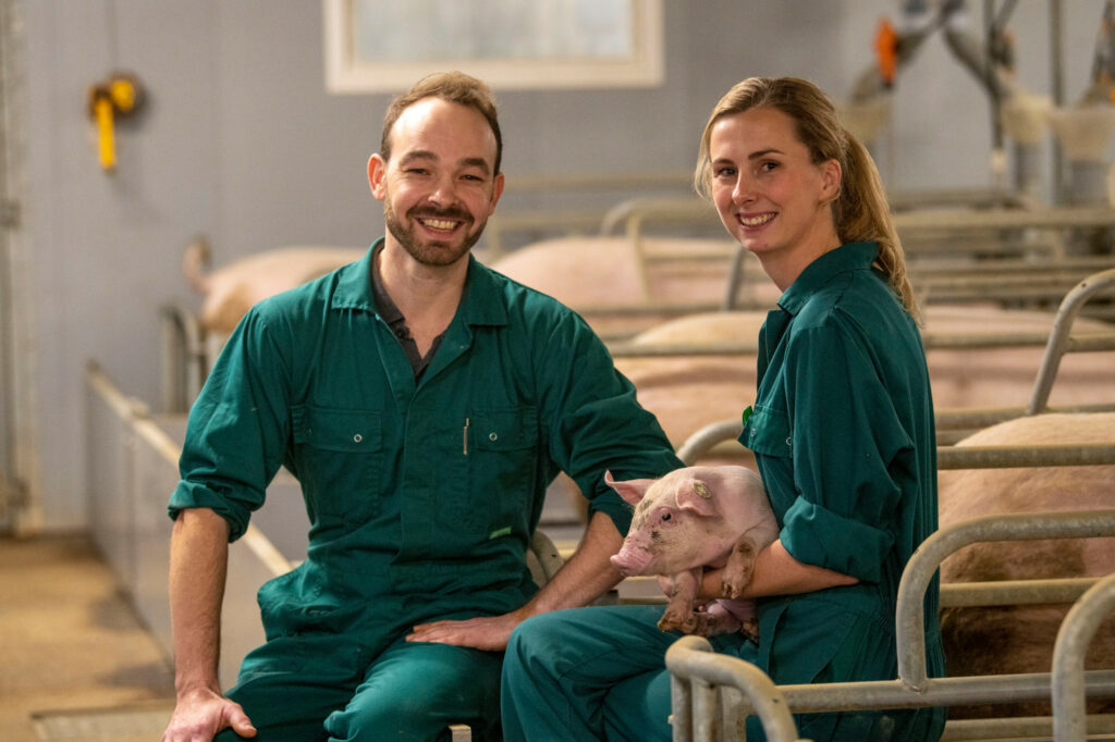
[[[292,409],[299,480],[310,518],[356,528],[378,514],[382,416],[374,410]]]

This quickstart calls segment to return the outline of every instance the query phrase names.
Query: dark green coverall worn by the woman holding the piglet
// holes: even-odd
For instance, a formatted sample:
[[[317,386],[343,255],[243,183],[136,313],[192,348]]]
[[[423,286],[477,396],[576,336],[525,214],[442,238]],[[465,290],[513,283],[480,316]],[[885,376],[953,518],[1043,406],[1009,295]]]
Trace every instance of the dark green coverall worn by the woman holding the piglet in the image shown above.
[[[714,637],[775,683],[893,680],[899,579],[937,528],[937,443],[913,320],[872,269],[875,243],[814,261],[759,333],[758,391],[739,440],[755,452],[789,554],[860,579],[760,598],[759,645]],[[933,583],[928,670],[944,672]],[[662,608],[591,607],[531,618],[504,662],[504,734],[516,740],[669,740]],[[944,711],[801,714],[814,742],[923,742]],[[565,734],[565,736],[561,736]],[[764,735],[750,717],[748,740]]]

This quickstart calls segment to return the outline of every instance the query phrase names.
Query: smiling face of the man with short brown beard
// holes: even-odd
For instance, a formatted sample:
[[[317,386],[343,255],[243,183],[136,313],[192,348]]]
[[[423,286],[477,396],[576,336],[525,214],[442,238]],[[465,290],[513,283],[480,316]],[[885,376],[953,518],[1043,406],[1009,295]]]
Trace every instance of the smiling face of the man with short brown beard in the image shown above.
[[[390,162],[372,155],[368,164],[388,240],[423,265],[452,265],[479,240],[503,193],[503,175],[492,172],[495,135],[479,111],[425,98],[390,137]]]

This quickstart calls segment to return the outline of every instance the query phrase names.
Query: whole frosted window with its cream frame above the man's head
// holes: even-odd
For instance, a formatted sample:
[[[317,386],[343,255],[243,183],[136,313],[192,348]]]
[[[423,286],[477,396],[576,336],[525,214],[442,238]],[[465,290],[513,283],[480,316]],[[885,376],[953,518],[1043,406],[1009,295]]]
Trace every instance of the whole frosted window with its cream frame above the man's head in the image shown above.
[[[459,69],[497,89],[653,86],[661,0],[323,0],[332,92]]]

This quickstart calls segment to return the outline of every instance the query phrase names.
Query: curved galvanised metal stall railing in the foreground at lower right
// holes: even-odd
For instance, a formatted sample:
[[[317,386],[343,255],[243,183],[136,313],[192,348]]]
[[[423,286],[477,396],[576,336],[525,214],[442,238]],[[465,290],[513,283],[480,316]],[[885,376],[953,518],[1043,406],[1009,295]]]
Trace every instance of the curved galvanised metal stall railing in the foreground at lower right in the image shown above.
[[[956,524],[933,534],[914,553],[900,582],[895,622],[899,676],[892,681],[768,686],[766,683],[769,683],[769,678],[765,678],[765,682],[755,684],[750,680],[754,675],[752,670],[739,670],[739,666],[750,663],[723,655],[715,663],[696,658],[694,655],[697,654],[699,643],[705,642],[707,645],[707,642],[689,637],[686,644],[675,645],[677,648],[671,647],[672,654],[667,654],[667,667],[678,683],[673,686],[677,690],[673,739],[676,742],[721,739],[717,734],[723,734],[726,728],[737,728],[739,719],[749,713],[759,713],[759,709],[772,704],[785,706],[795,713],[813,713],[1009,703],[1048,700],[1053,694],[1057,710],[1065,710],[1064,713],[1073,710],[1070,713],[1075,724],[1077,716],[1083,716],[1079,710],[1083,709],[1085,697],[1115,697],[1115,671],[1083,670],[1084,648],[1104,615],[1102,612],[1109,611],[1112,602],[1115,602],[1115,587],[1111,585],[1111,577],[1104,580],[1088,579],[1092,587],[1085,594],[1087,602],[1082,599],[1074,608],[1078,611],[1079,617],[1074,618],[1072,624],[1063,625],[1058,634],[1058,644],[1065,647],[1061,650],[1064,658],[1059,663],[1055,658],[1053,673],[929,677],[925,665],[924,595],[941,562],[960,548],[978,541],[1104,536],[1115,536],[1115,510],[991,516]],[[1059,601],[1061,597],[1057,595],[1053,599]],[[1047,602],[1048,598],[1037,599]],[[1063,641],[1061,636],[1066,638]],[[1053,681],[1055,675],[1059,678],[1056,693]],[[687,691],[682,686],[683,683],[692,683],[695,676],[699,676],[706,685],[736,687],[744,696],[727,710],[717,709],[715,702],[709,701],[709,689],[699,685],[697,690],[690,687]],[[1057,693],[1060,695],[1059,700]],[[699,711],[698,696],[704,699]],[[723,694],[720,700],[723,703]],[[1096,725],[1115,730],[1115,724],[1108,726],[1111,721],[1099,719]],[[1030,732],[1037,728],[1040,733],[1048,725],[1048,720],[1031,719],[1021,723],[1015,720],[1012,723]],[[1016,730],[1015,733],[1021,732]],[[1079,738],[1057,738],[1058,742],[1076,739]]]

